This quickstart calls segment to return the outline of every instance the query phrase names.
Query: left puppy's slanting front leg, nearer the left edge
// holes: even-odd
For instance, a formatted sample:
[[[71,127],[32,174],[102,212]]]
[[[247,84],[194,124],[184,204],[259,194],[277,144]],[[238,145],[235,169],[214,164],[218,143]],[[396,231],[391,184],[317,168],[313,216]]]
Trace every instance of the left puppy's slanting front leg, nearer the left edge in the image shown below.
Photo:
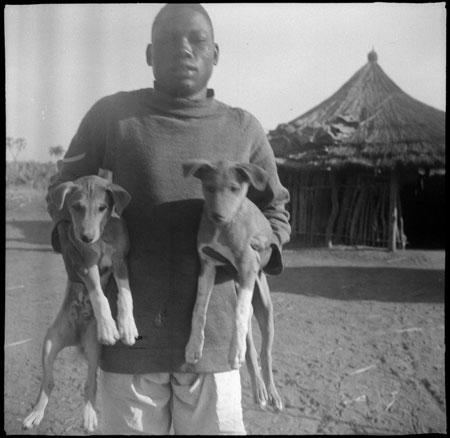
[[[82,280],[89,292],[89,299],[97,319],[98,341],[106,345],[113,345],[120,339],[120,335],[112,317],[108,299],[105,297],[100,284],[98,267],[90,266]]]

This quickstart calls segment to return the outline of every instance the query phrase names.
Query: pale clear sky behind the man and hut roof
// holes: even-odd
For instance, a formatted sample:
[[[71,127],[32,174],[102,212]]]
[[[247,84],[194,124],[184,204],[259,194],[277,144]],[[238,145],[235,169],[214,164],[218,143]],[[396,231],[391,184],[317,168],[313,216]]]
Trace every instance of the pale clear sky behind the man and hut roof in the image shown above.
[[[49,161],[97,100],[153,86],[145,49],[162,6],[6,5],[6,136],[26,139],[19,160]],[[220,48],[209,87],[267,132],[331,96],[372,49],[404,92],[445,111],[445,2],[203,6]]]

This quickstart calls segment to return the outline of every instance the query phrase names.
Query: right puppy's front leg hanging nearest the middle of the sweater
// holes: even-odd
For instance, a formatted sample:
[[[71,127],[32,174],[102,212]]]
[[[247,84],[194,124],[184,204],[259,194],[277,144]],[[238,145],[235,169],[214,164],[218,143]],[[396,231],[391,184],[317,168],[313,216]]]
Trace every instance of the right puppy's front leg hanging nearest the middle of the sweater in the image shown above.
[[[209,299],[214,287],[216,268],[204,258],[200,258],[201,267],[198,277],[197,298],[192,313],[191,336],[186,346],[186,362],[197,363],[202,357],[203,344],[205,342],[206,312]]]

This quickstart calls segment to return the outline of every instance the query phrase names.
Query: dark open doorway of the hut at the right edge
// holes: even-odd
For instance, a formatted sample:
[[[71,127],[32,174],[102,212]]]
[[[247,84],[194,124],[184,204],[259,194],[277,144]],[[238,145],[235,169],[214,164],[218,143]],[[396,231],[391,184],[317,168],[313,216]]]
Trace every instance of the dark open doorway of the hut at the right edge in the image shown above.
[[[410,249],[445,248],[445,175],[421,176],[400,188]]]

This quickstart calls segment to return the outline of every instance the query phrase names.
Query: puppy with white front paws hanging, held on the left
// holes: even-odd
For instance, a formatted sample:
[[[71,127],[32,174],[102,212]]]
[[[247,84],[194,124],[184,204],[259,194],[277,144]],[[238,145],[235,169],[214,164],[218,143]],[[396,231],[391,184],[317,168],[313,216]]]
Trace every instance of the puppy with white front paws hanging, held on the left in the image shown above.
[[[100,343],[112,345],[122,339],[133,345],[138,338],[126,263],[128,232],[120,217],[131,197],[111,179],[85,176],[62,183],[49,194],[59,210],[66,205],[70,212],[70,244],[65,250],[79,281],[68,278],[62,307],[47,330],[42,349],[42,383],[36,404],[23,421],[24,429],[39,425],[44,417],[54,387],[53,364],[58,353],[68,346],[80,346],[88,362],[83,426],[88,432],[95,430]],[[111,275],[118,287],[117,326],[103,292]]]

